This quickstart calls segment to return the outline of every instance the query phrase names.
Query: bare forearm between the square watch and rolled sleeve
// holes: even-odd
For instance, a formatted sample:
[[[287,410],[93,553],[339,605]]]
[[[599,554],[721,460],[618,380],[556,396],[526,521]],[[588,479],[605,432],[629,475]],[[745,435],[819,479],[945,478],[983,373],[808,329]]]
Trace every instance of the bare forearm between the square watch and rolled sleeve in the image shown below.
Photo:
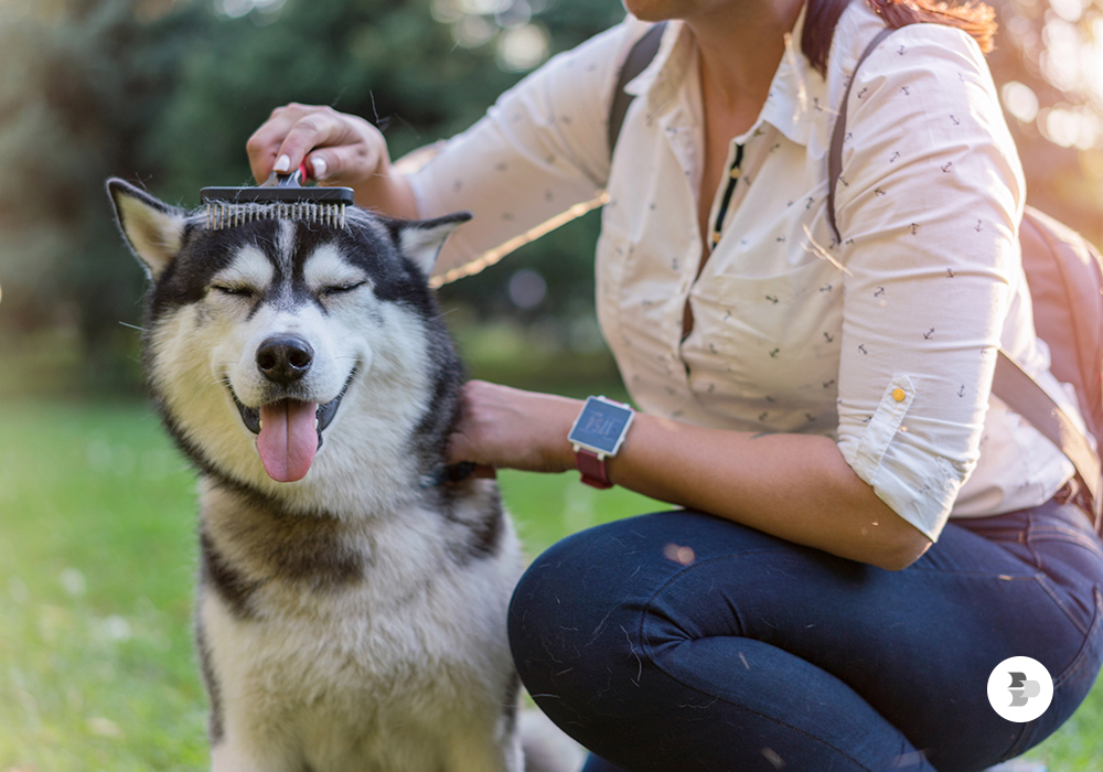
[[[610,480],[833,555],[900,569],[930,545],[815,435],[751,435],[640,415]]]

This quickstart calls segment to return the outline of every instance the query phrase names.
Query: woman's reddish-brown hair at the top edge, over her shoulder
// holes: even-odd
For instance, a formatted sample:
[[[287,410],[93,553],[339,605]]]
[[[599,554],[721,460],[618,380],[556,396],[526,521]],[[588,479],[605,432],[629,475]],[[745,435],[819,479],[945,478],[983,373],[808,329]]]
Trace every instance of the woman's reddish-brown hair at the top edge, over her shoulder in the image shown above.
[[[952,4],[940,0],[865,0],[889,26],[900,29],[908,24],[931,23],[956,26],[976,39],[981,51],[992,51],[996,34],[996,15],[990,7],[979,0]],[[801,51],[821,75],[827,72],[827,55],[835,25],[850,0],[808,0],[801,34]]]

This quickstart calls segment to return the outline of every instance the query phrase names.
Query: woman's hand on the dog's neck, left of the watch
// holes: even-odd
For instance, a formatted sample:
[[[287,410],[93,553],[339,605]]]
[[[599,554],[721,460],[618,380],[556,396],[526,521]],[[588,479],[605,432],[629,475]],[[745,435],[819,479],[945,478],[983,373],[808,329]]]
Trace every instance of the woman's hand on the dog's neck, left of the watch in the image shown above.
[[[463,387],[460,423],[449,440],[449,462],[531,472],[575,468],[567,435],[582,403],[471,380]]]

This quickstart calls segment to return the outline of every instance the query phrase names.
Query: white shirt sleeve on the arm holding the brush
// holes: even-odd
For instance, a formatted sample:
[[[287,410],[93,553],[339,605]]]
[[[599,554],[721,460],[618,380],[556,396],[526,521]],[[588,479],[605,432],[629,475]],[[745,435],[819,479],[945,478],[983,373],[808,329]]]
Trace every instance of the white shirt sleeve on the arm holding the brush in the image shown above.
[[[630,20],[553,57],[407,178],[420,216],[474,214],[448,239],[436,274],[600,192],[609,175],[609,105],[635,26]]]

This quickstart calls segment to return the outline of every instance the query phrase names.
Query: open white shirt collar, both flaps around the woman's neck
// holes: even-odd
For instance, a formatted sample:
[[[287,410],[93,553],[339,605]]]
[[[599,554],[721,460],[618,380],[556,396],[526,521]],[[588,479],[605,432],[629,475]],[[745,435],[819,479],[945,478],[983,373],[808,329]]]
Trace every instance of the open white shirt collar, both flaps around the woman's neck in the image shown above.
[[[770,84],[770,96],[754,126],[742,138],[768,122],[791,141],[806,146],[813,122],[826,111],[824,79],[801,52],[806,11],[807,4],[801,8],[793,32],[786,39],[785,53]],[[673,101],[686,77],[697,77],[696,62],[693,32],[682,21],[671,21],[663,32],[655,57],[624,90],[634,96],[646,94],[650,111],[657,114]]]

